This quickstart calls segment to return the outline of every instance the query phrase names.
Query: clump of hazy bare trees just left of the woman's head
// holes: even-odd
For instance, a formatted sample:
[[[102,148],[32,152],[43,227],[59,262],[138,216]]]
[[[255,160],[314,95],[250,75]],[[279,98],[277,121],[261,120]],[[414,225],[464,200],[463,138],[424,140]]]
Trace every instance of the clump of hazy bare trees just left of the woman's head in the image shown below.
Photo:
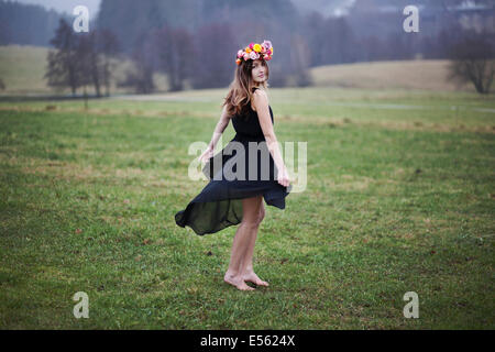
[[[238,48],[231,31],[228,24],[211,24],[195,36],[186,29],[168,25],[143,32],[131,53],[134,68],[119,87],[148,94],[155,88],[154,73],[167,77],[170,91],[185,89],[186,82],[197,89],[224,87],[235,68],[232,57]]]

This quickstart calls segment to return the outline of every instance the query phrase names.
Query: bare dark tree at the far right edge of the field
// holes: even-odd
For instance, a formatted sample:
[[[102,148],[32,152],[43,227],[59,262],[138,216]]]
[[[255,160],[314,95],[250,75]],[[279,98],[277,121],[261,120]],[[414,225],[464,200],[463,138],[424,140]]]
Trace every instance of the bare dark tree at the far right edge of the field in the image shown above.
[[[488,94],[495,76],[495,41],[488,33],[469,32],[450,48],[451,81],[472,82],[479,94]]]

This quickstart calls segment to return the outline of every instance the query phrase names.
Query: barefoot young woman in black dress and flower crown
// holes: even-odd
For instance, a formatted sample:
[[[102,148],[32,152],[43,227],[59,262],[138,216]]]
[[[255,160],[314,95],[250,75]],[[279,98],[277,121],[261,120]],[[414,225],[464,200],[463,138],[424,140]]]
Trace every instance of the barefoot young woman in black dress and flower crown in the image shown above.
[[[251,43],[238,52],[234,80],[223,102],[220,121],[207,150],[199,156],[208,161],[205,169],[210,182],[185,210],[175,215],[178,226],[188,226],[199,235],[240,223],[223,279],[242,290],[254,289],[246,282],[268,286],[253,270],[254,244],[265,216],[263,198],[267,205],[285,209],[285,197],[292,188],[265,91],[270,76],[267,61],[272,55],[270,41]],[[215,146],[230,120],[237,134],[213,156]],[[263,147],[268,163],[258,156],[258,152],[263,155]],[[253,154],[250,148],[254,148]],[[233,178],[227,175],[232,172],[235,173]],[[266,175],[268,177],[264,177]]]

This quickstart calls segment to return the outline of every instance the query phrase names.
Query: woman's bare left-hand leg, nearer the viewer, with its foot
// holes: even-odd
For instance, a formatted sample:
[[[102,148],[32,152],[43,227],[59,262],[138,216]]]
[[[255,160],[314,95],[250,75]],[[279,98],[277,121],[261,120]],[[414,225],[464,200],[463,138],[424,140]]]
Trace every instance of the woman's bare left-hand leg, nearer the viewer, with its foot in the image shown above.
[[[232,243],[229,268],[223,279],[242,290],[252,290],[243,279],[245,273],[245,261],[248,250],[252,243],[253,233],[257,231],[260,219],[260,207],[262,196],[242,199],[242,221],[235,232]]]

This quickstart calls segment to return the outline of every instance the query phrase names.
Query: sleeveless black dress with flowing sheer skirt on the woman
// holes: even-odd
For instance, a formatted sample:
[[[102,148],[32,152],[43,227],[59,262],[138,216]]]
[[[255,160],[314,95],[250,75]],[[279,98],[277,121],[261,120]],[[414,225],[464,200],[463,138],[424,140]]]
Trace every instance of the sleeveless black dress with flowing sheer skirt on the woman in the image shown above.
[[[273,123],[272,107],[268,108]],[[235,136],[202,169],[209,178],[208,185],[185,210],[175,215],[179,227],[188,226],[199,235],[239,224],[242,198],[262,195],[267,205],[285,209],[285,197],[292,189],[292,185],[284,187],[277,183],[277,168],[251,105],[231,120]]]

